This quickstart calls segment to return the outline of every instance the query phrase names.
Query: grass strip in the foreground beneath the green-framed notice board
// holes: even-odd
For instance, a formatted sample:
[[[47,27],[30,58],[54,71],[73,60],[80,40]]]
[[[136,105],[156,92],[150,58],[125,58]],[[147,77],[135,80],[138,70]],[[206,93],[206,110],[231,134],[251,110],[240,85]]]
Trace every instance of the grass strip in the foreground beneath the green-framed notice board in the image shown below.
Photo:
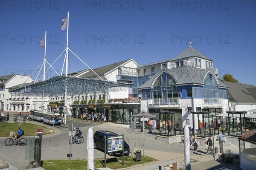
[[[124,157],[124,165],[122,165],[122,157],[113,157],[106,159],[106,167],[111,169],[119,169],[124,167],[131,167],[137,164],[145,164],[148,162],[157,161],[157,159],[144,156],[141,161],[135,161],[135,156],[133,158],[129,156]],[[42,166],[42,165],[41,165]],[[104,159],[94,160],[95,169],[104,167]],[[87,170],[87,159],[82,160],[47,160],[43,162],[44,169],[46,170]]]

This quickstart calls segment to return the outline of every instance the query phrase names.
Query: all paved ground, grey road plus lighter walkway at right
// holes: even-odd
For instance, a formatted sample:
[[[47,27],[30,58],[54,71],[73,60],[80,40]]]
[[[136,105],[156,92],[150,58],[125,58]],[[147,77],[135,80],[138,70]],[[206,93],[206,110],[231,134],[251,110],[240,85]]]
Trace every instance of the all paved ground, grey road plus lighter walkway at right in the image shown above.
[[[42,125],[42,123],[39,122],[34,123]],[[45,126],[50,127],[49,125]],[[84,139],[86,139],[87,130],[89,128],[90,127],[88,126],[80,127],[81,131],[83,132]],[[68,159],[67,154],[70,153],[70,144],[68,144],[70,139],[70,136],[68,136],[69,128],[56,129],[58,130],[57,133],[43,136],[41,160]],[[93,131],[96,130],[110,130],[117,134],[124,134],[126,142],[130,145],[130,147],[132,147],[133,133],[130,128],[112,123],[104,123],[101,125],[93,126]],[[182,162],[184,156],[183,144],[178,142],[167,144],[157,141],[155,136],[156,134],[157,130],[153,130],[153,133],[151,134],[149,134],[145,130],[145,155],[154,157],[161,161],[178,159],[180,162]],[[13,162],[29,162],[28,151],[31,148],[30,144],[28,144],[27,146],[5,146],[5,139],[6,138],[0,138],[0,160],[3,161],[4,165]],[[140,130],[138,129],[135,131],[134,148],[134,152],[136,150],[143,151],[143,133],[140,132]],[[191,148],[193,148],[193,146]],[[198,150],[200,150],[200,152],[194,152],[193,150],[190,150],[191,156],[194,156],[194,159],[197,159],[199,162],[213,159],[211,155],[205,155],[206,147],[204,146],[204,144],[203,146],[199,145]],[[82,144],[72,144],[71,153],[73,153],[73,157],[71,159],[87,159],[86,142]],[[163,156],[160,156],[159,154]],[[102,152],[101,150],[94,150],[94,156],[95,159],[104,159],[104,152]],[[111,156],[107,155],[107,158],[109,157]]]

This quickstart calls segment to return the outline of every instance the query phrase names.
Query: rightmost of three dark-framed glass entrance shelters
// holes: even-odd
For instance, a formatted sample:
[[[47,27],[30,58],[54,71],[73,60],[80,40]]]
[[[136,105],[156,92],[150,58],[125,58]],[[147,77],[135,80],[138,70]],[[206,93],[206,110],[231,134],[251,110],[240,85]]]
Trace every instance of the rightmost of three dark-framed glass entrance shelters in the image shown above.
[[[245,113],[246,111],[227,111],[228,131],[230,136],[240,136],[245,132]]]

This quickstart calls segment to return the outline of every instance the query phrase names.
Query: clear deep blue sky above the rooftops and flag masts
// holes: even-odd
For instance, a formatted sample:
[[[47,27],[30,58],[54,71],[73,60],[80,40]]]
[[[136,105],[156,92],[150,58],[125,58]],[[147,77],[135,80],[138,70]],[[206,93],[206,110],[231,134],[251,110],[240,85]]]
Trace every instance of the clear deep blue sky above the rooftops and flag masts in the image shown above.
[[[192,41],[220,77],[256,85],[255,0],[0,0],[0,75],[31,74],[44,58],[45,30],[52,64],[65,48],[67,11],[69,47],[91,68],[130,58],[139,65],[172,59]],[[59,74],[63,61],[64,55],[53,65]],[[70,71],[85,68],[70,53]]]

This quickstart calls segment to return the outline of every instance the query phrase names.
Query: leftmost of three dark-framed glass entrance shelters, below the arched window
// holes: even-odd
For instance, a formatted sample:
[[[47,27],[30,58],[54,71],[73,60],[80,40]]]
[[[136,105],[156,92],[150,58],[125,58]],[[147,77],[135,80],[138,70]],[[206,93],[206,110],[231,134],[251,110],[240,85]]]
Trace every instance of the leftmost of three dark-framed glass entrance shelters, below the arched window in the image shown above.
[[[176,128],[175,128],[175,113],[176,112],[158,112],[159,113],[159,134],[162,136],[175,136]]]

